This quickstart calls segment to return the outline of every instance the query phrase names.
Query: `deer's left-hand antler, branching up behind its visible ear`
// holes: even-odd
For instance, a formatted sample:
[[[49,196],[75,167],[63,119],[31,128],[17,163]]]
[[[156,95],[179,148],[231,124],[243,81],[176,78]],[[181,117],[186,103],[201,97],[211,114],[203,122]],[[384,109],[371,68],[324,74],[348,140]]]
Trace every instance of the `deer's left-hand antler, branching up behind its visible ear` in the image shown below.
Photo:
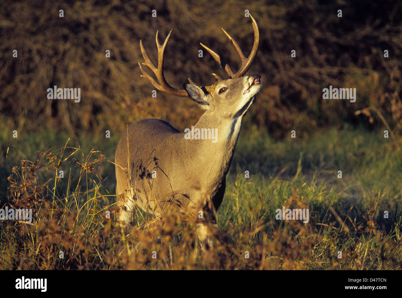
[[[172,29],[173,30],[173,29]],[[144,70],[144,68],[141,66],[141,64],[138,62],[139,68],[141,68],[142,75],[143,77],[147,78],[150,80],[151,84],[154,85],[154,87],[160,91],[166,92],[168,94],[176,95],[176,96],[181,96],[181,97],[188,97],[189,95],[187,94],[186,90],[181,90],[181,89],[176,89],[170,86],[164,77],[163,74],[163,59],[165,55],[165,47],[169,41],[170,34],[172,33],[172,30],[170,30],[168,37],[166,37],[165,42],[163,45],[160,45],[158,41],[158,31],[156,31],[156,45],[158,47],[158,68],[156,68],[155,64],[152,62],[152,60],[149,58],[147,52],[145,51],[144,47],[142,46],[142,40],[139,41],[139,45],[141,47],[141,52],[142,56],[144,57],[145,63],[144,65],[148,66],[156,75],[156,78],[158,81],[156,81],[152,76],[148,74]]]

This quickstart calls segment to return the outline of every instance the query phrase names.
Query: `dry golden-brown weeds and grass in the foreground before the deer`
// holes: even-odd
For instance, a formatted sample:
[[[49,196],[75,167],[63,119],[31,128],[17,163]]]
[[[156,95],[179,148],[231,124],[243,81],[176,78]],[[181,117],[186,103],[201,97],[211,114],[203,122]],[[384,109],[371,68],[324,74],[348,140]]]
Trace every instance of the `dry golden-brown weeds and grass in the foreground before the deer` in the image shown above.
[[[248,223],[234,210],[234,222],[243,224],[228,222],[221,230],[210,226],[214,246],[204,251],[196,237],[199,219],[191,212],[156,218],[138,210],[136,224],[125,231],[114,220],[115,196],[99,175],[99,166],[107,162],[103,154],[91,150],[84,156],[71,144],[76,143],[69,140],[13,168],[10,206],[33,208],[33,222],[0,222],[0,269],[402,269],[401,218],[384,226],[376,202],[365,213],[356,206],[340,215],[331,205],[312,208],[314,202],[302,199],[297,187],[283,206],[310,208],[310,224],[278,222],[267,214]],[[68,162],[79,175],[69,176],[66,187],[55,173]],[[53,178],[41,182],[49,174]],[[262,197],[255,200],[254,210],[267,205]]]

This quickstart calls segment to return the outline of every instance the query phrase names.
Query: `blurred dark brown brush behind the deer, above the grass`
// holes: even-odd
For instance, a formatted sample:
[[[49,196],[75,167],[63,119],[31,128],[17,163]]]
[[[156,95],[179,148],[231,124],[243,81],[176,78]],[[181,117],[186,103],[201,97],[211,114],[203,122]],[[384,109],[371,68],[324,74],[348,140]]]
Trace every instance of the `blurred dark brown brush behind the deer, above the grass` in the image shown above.
[[[64,10],[64,18],[59,10]],[[157,17],[151,16],[156,9]],[[0,8],[0,117],[11,131],[39,128],[77,135],[156,117],[179,130],[201,115],[195,103],[158,92],[140,78],[139,40],[154,60],[166,49],[166,79],[181,88],[187,78],[211,85],[226,74],[199,42],[239,66],[224,27],[248,55],[253,41],[248,9],[260,29],[260,47],[248,73],[263,77],[263,90],[245,121],[274,138],[289,130],[384,122],[402,129],[401,1],[5,1]],[[337,16],[341,9],[343,17]],[[18,50],[18,58],[12,51]],[[105,57],[105,51],[111,57]],[[296,58],[291,58],[291,50]],[[388,50],[389,58],[384,58]],[[47,88],[81,88],[81,102],[49,100]],[[357,88],[357,101],[323,100],[322,89]],[[356,113],[357,112],[357,113]],[[381,116],[383,119],[381,119]]]

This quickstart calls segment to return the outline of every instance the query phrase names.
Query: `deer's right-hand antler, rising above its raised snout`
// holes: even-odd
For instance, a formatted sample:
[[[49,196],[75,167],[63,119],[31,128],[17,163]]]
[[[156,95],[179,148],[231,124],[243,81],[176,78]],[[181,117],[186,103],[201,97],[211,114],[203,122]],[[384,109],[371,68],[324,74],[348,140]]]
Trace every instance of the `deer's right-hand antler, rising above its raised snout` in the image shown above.
[[[248,56],[248,58],[246,58],[244,56],[242,49],[240,49],[240,47],[236,43],[236,41],[234,41],[234,39],[229,35],[229,33],[227,33],[222,28],[222,30],[224,31],[226,36],[229,37],[230,41],[232,41],[237,53],[240,56],[240,59],[242,60],[242,67],[240,67],[239,71],[236,72],[236,74],[233,73],[232,68],[230,68],[229,64],[224,60],[224,58],[222,58],[220,55],[218,55],[217,53],[212,51],[206,45],[203,45],[202,43],[200,43],[212,55],[213,59],[215,59],[215,61],[218,62],[225,69],[225,72],[228,74],[228,76],[230,78],[240,78],[241,76],[244,76],[244,74],[246,74],[247,70],[250,68],[250,66],[254,60],[254,57],[257,53],[257,50],[258,50],[258,45],[260,43],[260,33],[258,32],[257,23],[254,20],[254,18],[251,16],[251,14],[250,14],[250,17],[252,19],[252,27],[254,28],[254,45],[252,47],[251,53]]]

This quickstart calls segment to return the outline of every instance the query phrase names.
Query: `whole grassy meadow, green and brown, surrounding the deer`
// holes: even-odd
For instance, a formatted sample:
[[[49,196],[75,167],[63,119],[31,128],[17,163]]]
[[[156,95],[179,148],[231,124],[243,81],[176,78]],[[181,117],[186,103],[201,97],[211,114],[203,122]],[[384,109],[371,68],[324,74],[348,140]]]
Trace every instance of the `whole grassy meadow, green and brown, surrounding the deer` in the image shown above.
[[[380,131],[328,129],[279,142],[242,131],[206,251],[190,213],[158,220],[138,210],[127,232],[114,221],[107,159],[117,132],[66,144],[63,134],[17,141],[1,131],[3,151],[16,149],[3,160],[11,174],[2,199],[33,208],[34,220],[0,221],[0,269],[402,269],[402,140]],[[282,206],[308,208],[310,221],[276,220]]]

